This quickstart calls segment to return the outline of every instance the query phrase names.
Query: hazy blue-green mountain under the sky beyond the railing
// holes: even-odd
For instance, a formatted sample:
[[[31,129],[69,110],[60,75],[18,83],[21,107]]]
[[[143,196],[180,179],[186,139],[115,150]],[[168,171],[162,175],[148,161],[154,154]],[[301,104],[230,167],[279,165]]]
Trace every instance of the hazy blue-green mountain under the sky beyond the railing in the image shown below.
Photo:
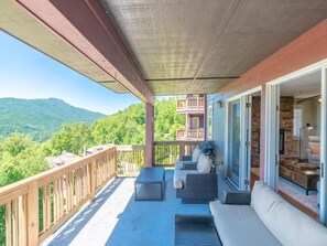
[[[74,107],[57,98],[0,98],[0,139],[21,132],[43,142],[64,122],[85,121],[90,125],[101,117],[105,115]]]

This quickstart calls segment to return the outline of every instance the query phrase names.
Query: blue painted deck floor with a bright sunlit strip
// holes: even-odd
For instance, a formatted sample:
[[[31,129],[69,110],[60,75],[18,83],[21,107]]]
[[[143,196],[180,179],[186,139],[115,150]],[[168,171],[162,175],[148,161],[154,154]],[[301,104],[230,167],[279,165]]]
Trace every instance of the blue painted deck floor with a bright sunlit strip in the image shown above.
[[[134,201],[134,178],[117,178],[43,245],[170,246],[175,214],[209,214],[208,204],[182,204],[166,170],[164,201]],[[229,188],[219,177],[219,197]]]

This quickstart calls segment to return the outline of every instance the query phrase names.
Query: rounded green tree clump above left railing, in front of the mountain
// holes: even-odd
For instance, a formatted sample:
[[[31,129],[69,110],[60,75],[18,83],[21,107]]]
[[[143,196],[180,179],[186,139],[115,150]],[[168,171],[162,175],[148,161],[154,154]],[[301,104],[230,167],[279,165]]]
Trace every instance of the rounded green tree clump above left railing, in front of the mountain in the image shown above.
[[[92,136],[86,122],[63,124],[61,130],[44,145],[47,156],[58,156],[63,151],[81,154],[84,147],[92,145]]]

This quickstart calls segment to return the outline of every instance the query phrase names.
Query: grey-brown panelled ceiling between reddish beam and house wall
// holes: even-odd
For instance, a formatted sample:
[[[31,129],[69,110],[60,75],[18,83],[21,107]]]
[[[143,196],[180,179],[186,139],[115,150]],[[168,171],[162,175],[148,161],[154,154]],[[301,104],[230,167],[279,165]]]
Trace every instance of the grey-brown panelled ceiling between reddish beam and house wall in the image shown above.
[[[215,93],[327,18],[326,0],[100,0],[155,95]]]

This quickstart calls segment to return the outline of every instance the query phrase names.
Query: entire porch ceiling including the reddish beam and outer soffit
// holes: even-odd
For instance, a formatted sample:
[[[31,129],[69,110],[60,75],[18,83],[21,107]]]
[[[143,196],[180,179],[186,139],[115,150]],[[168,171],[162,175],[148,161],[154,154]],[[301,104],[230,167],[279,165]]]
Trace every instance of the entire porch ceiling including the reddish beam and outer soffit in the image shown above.
[[[89,8],[98,4],[89,0],[35,2],[1,0],[0,30],[113,92],[145,95],[143,100],[151,100],[150,89],[155,95],[216,93],[327,18],[326,0],[99,0],[99,8]],[[50,14],[42,15],[43,9]],[[85,13],[96,20],[85,20]],[[108,34],[108,23],[122,45]],[[76,43],[68,40],[68,30]],[[115,58],[111,51],[119,49],[107,40],[98,36],[99,45],[98,33],[128,49],[130,66]],[[110,58],[121,76],[108,65]]]

